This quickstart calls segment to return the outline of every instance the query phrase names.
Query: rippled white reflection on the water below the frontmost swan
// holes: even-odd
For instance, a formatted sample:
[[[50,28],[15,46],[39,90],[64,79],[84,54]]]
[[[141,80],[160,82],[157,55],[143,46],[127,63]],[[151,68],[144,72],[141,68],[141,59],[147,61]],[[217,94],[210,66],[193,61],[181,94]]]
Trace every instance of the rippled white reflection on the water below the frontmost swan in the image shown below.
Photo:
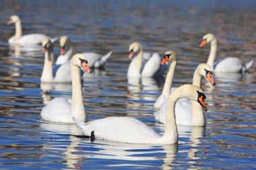
[[[171,166],[178,151],[178,145],[176,144],[152,146],[105,140],[90,142],[76,136],[70,136],[69,140],[71,140],[71,143],[63,152],[64,162],[68,168],[86,167],[90,161],[102,159],[102,161],[111,160],[108,161],[108,167],[151,167],[145,162],[162,161],[162,169],[172,169]],[[63,150],[59,146],[45,148]],[[156,157],[156,154],[160,156]]]

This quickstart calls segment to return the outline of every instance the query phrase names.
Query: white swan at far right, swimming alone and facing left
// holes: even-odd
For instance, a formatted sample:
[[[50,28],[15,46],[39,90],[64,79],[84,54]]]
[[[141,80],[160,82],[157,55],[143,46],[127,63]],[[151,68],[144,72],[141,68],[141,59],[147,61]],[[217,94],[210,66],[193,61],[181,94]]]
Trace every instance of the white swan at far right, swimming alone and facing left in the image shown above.
[[[211,44],[211,49],[207,60],[207,65],[210,65],[210,67],[212,67],[212,69],[214,69],[216,72],[245,72],[248,71],[253,65],[253,60],[245,64],[243,60],[235,57],[223,58],[214,62],[217,52],[217,39],[213,34],[206,34],[203,36],[200,47],[203,47],[208,43]]]

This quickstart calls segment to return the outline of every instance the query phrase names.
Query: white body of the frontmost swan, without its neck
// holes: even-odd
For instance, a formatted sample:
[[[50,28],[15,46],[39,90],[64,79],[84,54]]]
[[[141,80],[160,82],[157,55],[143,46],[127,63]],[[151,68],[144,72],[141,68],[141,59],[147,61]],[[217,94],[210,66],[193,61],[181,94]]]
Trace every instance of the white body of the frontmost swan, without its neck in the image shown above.
[[[160,136],[143,122],[126,117],[108,117],[83,123],[73,118],[85,135],[91,134],[98,139],[127,143],[151,143]]]

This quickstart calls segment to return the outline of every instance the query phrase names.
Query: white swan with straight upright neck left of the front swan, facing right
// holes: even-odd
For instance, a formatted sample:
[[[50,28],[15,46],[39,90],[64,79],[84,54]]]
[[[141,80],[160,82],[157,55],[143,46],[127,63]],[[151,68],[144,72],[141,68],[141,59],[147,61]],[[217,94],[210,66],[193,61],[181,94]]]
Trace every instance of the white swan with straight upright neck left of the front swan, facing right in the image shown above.
[[[73,55],[70,61],[72,75],[72,102],[61,97],[51,100],[44,106],[44,108],[42,108],[41,117],[43,120],[73,123],[73,116],[79,121],[86,122],[80,68],[82,67],[91,73],[87,64],[88,61],[83,54]]]

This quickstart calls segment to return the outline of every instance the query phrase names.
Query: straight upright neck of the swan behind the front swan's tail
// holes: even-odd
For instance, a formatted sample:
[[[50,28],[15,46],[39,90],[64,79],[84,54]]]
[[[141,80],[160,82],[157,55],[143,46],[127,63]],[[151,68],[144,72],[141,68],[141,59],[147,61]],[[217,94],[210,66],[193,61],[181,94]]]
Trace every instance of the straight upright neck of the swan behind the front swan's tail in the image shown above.
[[[86,122],[84,99],[81,83],[81,69],[71,64],[72,77],[72,116],[81,122]]]

